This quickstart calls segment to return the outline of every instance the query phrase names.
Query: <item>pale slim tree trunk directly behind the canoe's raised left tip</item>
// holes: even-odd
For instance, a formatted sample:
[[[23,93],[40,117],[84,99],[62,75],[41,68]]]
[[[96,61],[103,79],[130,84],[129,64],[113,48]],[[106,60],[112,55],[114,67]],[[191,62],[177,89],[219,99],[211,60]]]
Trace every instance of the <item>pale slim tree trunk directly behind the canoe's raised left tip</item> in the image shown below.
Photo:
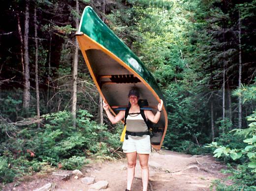
[[[79,3],[76,0],[76,12],[79,14]],[[79,18],[76,18],[76,29],[79,28]],[[78,67],[78,42],[76,40],[75,55],[73,60],[73,96],[72,96],[72,115],[73,127],[76,125],[76,102],[77,102],[77,67]]]

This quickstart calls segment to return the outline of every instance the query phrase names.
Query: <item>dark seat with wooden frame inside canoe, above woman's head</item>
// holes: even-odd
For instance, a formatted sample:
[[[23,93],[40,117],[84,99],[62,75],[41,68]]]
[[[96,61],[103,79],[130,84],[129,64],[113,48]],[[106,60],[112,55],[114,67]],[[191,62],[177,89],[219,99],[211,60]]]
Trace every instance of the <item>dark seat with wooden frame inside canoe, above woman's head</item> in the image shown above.
[[[99,80],[100,80],[101,86],[103,84],[111,84],[111,83],[138,83],[138,82],[141,82],[137,77],[134,77],[134,75],[132,75],[132,74],[99,76]]]

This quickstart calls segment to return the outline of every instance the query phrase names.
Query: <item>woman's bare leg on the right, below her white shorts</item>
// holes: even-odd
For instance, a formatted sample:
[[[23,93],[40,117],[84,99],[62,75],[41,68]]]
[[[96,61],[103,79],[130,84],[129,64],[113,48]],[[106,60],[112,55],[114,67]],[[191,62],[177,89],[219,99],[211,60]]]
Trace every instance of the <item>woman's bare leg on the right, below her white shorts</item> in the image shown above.
[[[138,154],[141,168],[143,191],[147,191],[149,182],[149,154]]]

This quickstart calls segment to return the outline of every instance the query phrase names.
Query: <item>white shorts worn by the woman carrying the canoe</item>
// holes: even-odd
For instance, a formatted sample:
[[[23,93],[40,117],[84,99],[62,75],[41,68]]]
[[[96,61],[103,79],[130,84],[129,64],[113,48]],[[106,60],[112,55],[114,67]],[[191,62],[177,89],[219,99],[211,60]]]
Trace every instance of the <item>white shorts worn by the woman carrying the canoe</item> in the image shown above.
[[[150,154],[151,144],[150,136],[144,135],[143,137],[128,136],[125,138],[123,147],[124,153],[137,152],[138,154]]]

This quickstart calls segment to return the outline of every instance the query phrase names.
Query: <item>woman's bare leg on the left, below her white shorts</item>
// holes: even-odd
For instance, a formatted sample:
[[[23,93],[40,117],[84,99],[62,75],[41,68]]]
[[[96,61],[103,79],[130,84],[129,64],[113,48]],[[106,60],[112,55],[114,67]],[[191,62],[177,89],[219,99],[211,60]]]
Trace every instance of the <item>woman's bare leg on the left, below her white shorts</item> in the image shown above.
[[[137,158],[137,152],[127,153],[127,189],[130,191],[131,184],[134,178],[135,173],[135,166],[136,166],[136,158]]]

